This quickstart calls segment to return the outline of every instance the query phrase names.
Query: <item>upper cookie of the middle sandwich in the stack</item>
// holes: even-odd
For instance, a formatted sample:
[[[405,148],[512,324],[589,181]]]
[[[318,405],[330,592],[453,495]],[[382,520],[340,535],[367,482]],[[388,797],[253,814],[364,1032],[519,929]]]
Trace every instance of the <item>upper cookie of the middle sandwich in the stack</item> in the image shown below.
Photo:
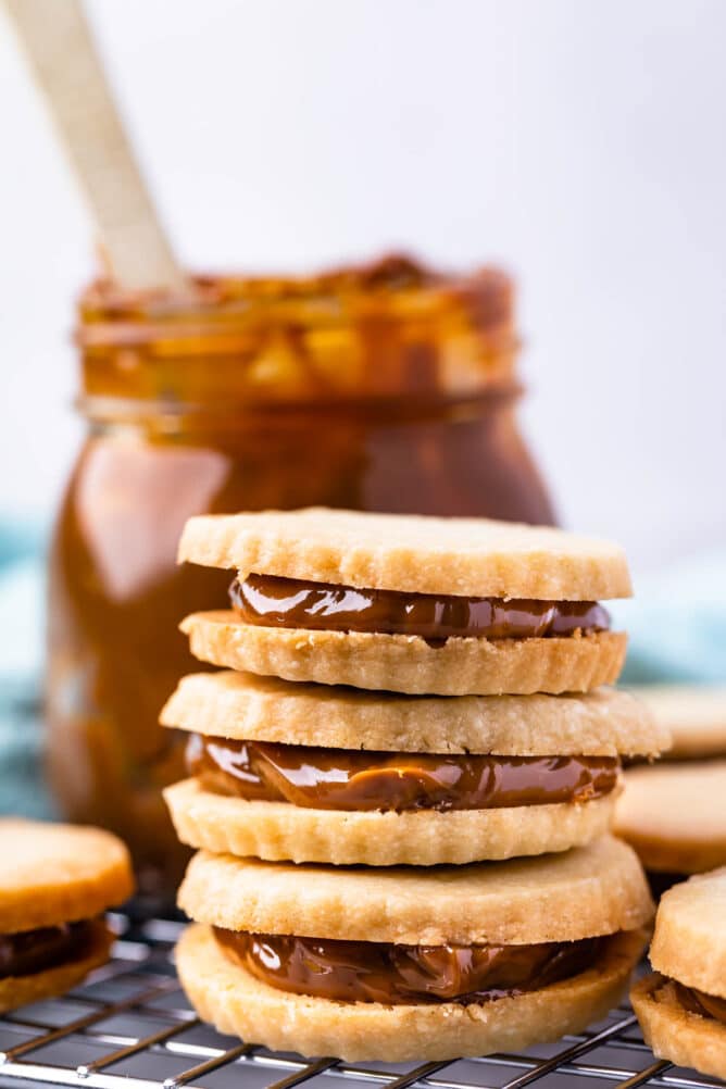
[[[632,696],[403,696],[223,671],[183,677],[167,726],[239,741],[393,752],[651,756],[668,734]]]

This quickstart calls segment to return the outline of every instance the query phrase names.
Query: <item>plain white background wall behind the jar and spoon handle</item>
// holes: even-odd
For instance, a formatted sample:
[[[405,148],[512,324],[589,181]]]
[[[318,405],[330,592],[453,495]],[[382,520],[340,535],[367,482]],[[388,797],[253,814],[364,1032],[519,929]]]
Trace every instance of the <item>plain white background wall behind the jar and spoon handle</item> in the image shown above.
[[[88,7],[187,266],[504,262],[562,516],[641,567],[726,544],[723,0]],[[93,238],[4,22],[0,147],[0,513],[47,516]]]

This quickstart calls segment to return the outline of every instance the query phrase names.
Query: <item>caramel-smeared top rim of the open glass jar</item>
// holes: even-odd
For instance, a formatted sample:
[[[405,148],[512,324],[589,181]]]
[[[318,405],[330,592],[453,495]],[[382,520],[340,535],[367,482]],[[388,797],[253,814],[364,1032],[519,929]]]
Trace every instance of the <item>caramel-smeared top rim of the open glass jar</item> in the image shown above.
[[[405,327],[463,321],[484,335],[512,334],[514,283],[504,270],[453,273],[405,254],[315,276],[192,276],[175,291],[122,291],[91,283],[78,301],[83,348],[173,339],[182,354],[199,341],[224,343],[261,329],[313,329],[358,322]]]

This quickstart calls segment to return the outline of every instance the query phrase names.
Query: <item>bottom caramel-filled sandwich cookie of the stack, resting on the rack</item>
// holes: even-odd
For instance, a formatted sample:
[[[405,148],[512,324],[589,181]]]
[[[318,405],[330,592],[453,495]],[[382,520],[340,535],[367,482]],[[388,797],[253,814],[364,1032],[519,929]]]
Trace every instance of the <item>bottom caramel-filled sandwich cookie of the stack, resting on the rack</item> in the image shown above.
[[[177,946],[199,1015],[249,1043],[399,1062],[514,1051],[615,1005],[652,903],[604,837],[561,855],[417,869],[201,853]]]

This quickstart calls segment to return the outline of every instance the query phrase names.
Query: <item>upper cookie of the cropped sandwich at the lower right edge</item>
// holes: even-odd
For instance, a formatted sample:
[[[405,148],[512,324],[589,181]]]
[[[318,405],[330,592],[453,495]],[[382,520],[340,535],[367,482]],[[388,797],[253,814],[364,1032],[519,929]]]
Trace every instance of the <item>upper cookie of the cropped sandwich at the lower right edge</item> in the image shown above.
[[[664,976],[726,999],[726,866],[664,894],[650,958]]]

